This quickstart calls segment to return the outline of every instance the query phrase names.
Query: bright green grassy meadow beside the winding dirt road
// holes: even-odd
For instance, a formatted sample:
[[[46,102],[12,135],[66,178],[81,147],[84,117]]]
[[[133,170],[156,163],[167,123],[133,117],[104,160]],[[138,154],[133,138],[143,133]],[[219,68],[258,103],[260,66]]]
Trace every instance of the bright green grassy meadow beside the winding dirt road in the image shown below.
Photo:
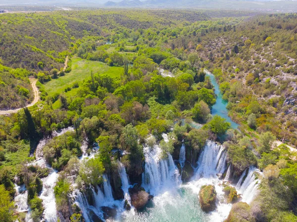
[[[122,67],[110,67],[103,62],[74,57],[72,58],[72,71],[66,73],[65,76],[49,81],[44,85],[45,89],[49,95],[53,95],[56,92],[64,92],[66,87],[71,86],[75,82],[81,85],[83,80],[90,76],[91,70],[93,73],[99,72],[100,74],[107,74],[111,77],[119,77],[124,72]],[[77,90],[72,89],[65,94],[67,97],[70,97],[75,95]]]

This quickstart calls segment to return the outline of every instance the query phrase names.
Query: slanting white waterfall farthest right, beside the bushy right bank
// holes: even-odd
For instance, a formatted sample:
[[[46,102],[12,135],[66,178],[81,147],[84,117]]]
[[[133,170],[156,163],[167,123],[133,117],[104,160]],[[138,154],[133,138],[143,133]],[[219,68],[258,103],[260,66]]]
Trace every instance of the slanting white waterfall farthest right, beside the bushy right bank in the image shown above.
[[[255,167],[249,167],[248,174],[245,180],[243,181],[243,178],[246,176],[246,170],[244,171],[236,185],[238,193],[242,194],[242,201],[246,202],[247,204],[250,204],[254,196],[257,194],[259,180],[256,179],[255,172],[259,174],[258,170]]]

